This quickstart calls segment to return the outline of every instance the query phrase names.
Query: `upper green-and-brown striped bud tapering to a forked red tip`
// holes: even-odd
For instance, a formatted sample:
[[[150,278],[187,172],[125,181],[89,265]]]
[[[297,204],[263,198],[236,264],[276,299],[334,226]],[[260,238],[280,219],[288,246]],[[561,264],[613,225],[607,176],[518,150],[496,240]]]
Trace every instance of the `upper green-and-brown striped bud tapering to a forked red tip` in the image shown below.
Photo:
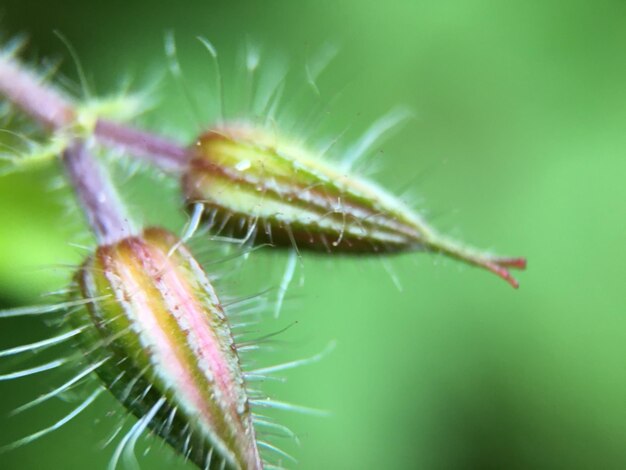
[[[204,205],[214,231],[252,242],[329,253],[443,253],[513,287],[507,268],[526,267],[523,258],[495,257],[441,236],[377,185],[262,129],[228,126],[200,136],[182,185],[189,205]]]

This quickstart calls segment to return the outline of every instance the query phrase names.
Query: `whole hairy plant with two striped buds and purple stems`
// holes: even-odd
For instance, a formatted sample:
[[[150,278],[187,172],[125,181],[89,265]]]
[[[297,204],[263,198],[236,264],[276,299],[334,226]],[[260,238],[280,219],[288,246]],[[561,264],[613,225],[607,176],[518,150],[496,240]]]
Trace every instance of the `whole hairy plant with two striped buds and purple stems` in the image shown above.
[[[76,99],[20,60],[21,43],[0,52],[3,106],[29,121],[29,134],[20,136],[26,145],[8,146],[3,168],[27,170],[33,163],[58,160],[95,239],[58,303],[0,312],[0,319],[41,316],[51,320],[53,332],[0,351],[0,362],[69,345],[59,358],[3,373],[0,381],[52,369],[74,371],[14,413],[68,390],[80,390],[82,397],[69,414],[4,450],[62,427],[99,396],[111,394],[136,417],[126,434],[121,435],[123,425],[114,430],[111,470],[137,465],[134,449],[143,435],[166,442],[202,469],[284,468],[295,460],[272,437],[297,440],[296,434],[264,409],[323,413],[273,400],[262,385],[273,374],[320,360],[333,343],[313,357],[254,366],[249,355],[272,335],[254,337],[250,326],[278,315],[298,259],[427,252],[483,268],[518,287],[509,270],[525,268],[523,258],[499,257],[440,234],[399,197],[354,170],[358,159],[407,117],[405,110],[383,116],[343,148],[336,140],[303,143],[277,126],[286,75],[255,86],[259,55],[248,50],[243,69],[251,85],[243,95],[250,111],[229,116],[217,51],[199,39],[213,61],[215,113],[195,139],[183,143],[135,127],[140,100],[132,96]],[[314,91],[333,54],[326,48],[306,67],[307,85]],[[188,93],[171,35],[166,56],[183,94]],[[312,120],[302,118],[305,124]],[[154,167],[178,185],[181,210],[188,211],[180,233],[143,227],[129,215],[109,176],[111,161],[101,158],[107,149]],[[154,194],[161,197],[166,196]],[[190,242],[235,244],[245,258],[257,249],[288,252],[273,306],[268,308],[266,293],[228,300],[216,273],[199,261]]]

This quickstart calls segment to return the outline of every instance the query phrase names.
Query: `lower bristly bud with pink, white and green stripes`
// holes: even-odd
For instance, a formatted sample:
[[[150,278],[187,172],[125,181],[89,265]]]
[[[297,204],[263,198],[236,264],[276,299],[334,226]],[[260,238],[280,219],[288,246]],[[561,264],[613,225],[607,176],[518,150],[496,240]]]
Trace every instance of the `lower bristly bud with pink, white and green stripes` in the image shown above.
[[[184,457],[200,468],[260,469],[230,326],[189,251],[170,253],[176,243],[146,229],[84,263],[77,281],[96,300],[73,316],[89,325],[82,346],[113,395]]]

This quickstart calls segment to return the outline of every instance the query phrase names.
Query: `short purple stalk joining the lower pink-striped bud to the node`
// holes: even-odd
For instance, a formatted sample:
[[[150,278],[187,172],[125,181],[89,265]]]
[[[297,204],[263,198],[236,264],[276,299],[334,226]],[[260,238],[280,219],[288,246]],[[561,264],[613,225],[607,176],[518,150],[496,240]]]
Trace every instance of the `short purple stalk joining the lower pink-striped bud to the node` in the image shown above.
[[[63,164],[98,242],[110,244],[132,235],[132,223],[115,188],[83,140],[70,143]]]

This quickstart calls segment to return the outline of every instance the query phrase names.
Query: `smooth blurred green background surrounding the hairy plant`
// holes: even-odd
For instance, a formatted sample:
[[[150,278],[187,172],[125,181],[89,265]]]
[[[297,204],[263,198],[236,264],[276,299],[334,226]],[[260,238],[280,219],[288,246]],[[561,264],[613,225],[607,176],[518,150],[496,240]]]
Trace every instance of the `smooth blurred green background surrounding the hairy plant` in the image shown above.
[[[127,76],[141,89],[163,74],[164,32],[174,31],[202,109],[213,106],[212,74],[199,34],[218,47],[229,93],[246,40],[260,46],[267,73],[276,58],[295,70],[337,44],[320,91],[344,91],[322,128],[338,134],[350,124],[354,138],[394,105],[410,106],[417,119],[375,155],[377,180],[410,187],[442,230],[528,258],[513,291],[427,255],[386,265],[305,256],[304,285],[263,326],[298,321],[274,360],[306,357],[331,339],[338,346],[271,387],[333,413],[280,415],[302,441],[282,446],[298,459],[293,467],[626,468],[626,2],[3,0],[1,9],[5,35],[26,33],[29,57],[64,58],[61,72],[76,81],[52,33],[62,31],[101,93]],[[164,80],[156,95],[142,124],[191,139],[198,128],[176,86]],[[294,104],[297,124],[309,109],[294,103],[284,106]],[[58,175],[48,167],[0,179],[6,307],[45,301],[39,296],[71,275],[64,266],[84,255],[68,243],[85,232],[80,214],[66,214],[66,197],[50,191]],[[180,229],[175,191],[155,202],[154,181],[125,187],[145,220]],[[253,256],[224,289],[276,285],[284,263],[280,254]],[[41,321],[5,320],[0,345],[48,334]],[[72,409],[57,400],[7,417],[59,378],[0,383],[0,443]],[[111,410],[120,411],[113,399],[98,401],[58,432],[0,455],[0,468],[105,468],[112,448],[99,444],[119,421]],[[187,468],[153,447],[142,468]]]

